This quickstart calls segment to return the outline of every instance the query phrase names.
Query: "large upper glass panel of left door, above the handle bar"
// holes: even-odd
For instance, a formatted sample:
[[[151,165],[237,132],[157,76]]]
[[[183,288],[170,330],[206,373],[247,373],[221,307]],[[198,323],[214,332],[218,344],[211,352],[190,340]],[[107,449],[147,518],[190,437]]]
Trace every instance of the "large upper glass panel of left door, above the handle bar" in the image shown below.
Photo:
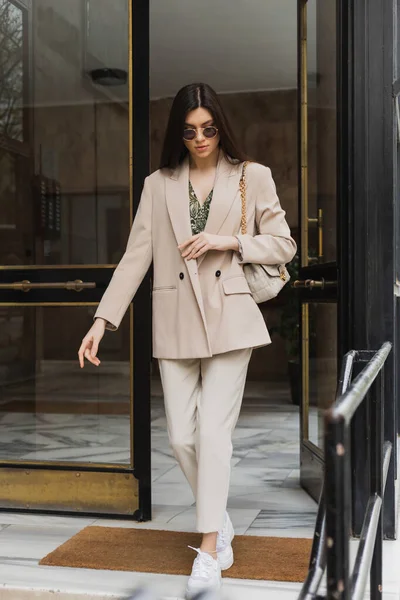
[[[14,247],[11,256],[0,240],[3,264],[114,264],[130,223],[128,0],[35,0],[31,6],[22,18],[10,0],[0,0],[0,32],[14,31],[0,42],[0,81],[12,63],[0,84],[0,129],[8,136],[7,155],[0,156],[0,182],[7,179],[0,224],[12,225],[7,248]],[[28,65],[34,85],[23,108],[32,127],[22,151],[11,139],[21,134],[6,131],[5,123],[15,113],[11,120],[21,130]],[[111,75],[99,78],[107,68]],[[18,98],[16,112],[7,104],[11,95]],[[13,205],[31,218],[10,222]]]

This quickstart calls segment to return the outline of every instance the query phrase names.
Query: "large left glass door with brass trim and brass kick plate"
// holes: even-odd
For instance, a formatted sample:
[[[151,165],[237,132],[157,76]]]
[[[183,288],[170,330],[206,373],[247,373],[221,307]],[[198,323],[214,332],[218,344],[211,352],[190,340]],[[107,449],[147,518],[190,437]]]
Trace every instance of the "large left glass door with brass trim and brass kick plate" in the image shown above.
[[[0,0],[2,509],[139,506],[132,307],[77,361],[133,216],[130,4]]]

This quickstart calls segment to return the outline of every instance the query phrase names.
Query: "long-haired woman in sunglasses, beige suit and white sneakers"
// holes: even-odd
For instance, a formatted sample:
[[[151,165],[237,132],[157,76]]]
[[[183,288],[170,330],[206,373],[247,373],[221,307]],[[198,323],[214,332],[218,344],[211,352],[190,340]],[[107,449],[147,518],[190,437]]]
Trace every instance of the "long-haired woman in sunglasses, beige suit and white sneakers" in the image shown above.
[[[243,162],[216,93],[182,88],[172,105],[158,171],[147,177],[126,252],[82,341],[99,365],[99,342],[115,330],[154,264],[153,351],[159,359],[168,433],[192,487],[203,534],[187,596],[218,589],[233,563],[226,512],[232,432],[253,348],[270,343],[243,274],[244,263],[289,262],[290,236],[268,168],[247,167],[247,224],[240,234]]]

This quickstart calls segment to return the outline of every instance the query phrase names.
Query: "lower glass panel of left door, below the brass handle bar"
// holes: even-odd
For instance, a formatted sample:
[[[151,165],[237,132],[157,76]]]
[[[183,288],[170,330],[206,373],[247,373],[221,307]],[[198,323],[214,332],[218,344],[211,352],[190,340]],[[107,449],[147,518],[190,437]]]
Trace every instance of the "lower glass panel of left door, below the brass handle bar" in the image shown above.
[[[0,306],[0,460],[130,463],[129,314],[81,370],[94,310]]]

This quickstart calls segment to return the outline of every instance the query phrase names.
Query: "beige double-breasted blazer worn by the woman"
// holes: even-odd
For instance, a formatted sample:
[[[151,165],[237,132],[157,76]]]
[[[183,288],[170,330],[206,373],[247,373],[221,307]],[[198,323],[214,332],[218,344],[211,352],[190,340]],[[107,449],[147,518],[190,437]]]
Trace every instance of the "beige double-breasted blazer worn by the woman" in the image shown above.
[[[238,235],[243,256],[217,250],[183,259],[178,244],[191,237],[189,164],[146,178],[126,252],[115,269],[96,317],[116,329],[136,290],[154,265],[153,354],[156,358],[201,358],[256,348],[271,342],[263,316],[243,275],[242,263],[290,262],[290,236],[271,171],[247,168],[247,229],[240,234],[242,164],[221,154],[205,231]]]

